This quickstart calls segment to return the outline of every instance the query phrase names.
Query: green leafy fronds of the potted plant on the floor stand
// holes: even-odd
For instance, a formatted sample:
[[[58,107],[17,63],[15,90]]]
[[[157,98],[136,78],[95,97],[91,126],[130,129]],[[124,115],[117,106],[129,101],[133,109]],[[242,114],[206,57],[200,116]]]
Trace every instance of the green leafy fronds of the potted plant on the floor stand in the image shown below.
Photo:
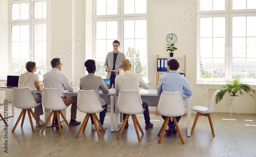
[[[223,96],[226,92],[228,92],[232,96],[236,96],[237,92],[240,92],[241,95],[244,95],[242,90],[244,90],[246,93],[250,94],[251,97],[254,98],[251,92],[254,92],[254,90],[248,85],[240,82],[240,76],[237,79],[234,79],[233,81],[226,80],[227,84],[223,86],[223,89],[216,95],[215,102],[218,103],[223,99]]]

